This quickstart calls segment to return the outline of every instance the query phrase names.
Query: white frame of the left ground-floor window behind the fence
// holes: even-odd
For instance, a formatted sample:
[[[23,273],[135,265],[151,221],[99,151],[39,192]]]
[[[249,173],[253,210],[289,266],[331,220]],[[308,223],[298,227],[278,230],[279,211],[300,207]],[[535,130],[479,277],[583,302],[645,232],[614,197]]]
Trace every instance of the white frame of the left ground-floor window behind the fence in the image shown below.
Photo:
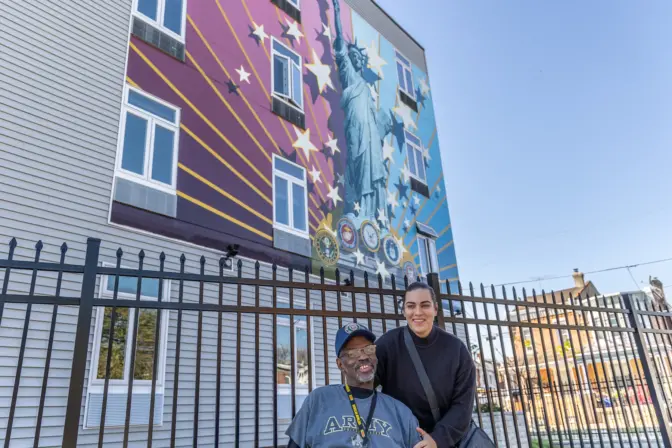
[[[110,263],[103,263],[103,267],[115,267],[115,265]],[[122,268],[124,268],[122,266]],[[107,290],[107,281],[110,276],[101,276],[98,297],[101,299],[110,299],[114,297],[114,293]],[[114,277],[111,277],[114,282]],[[142,291],[140,291],[142,293]],[[136,295],[118,292],[118,299],[130,299],[135,300]],[[157,297],[140,295],[141,301],[153,301],[158,300]],[[163,281],[163,291],[162,291],[162,302],[167,302],[170,300],[170,280]],[[112,305],[110,305],[111,307]],[[105,308],[109,307],[98,307],[95,310],[95,327],[93,333],[93,352],[91,353],[91,364],[89,365],[89,381],[87,388],[87,406],[86,412],[88,414],[88,396],[90,394],[102,394],[105,390],[105,379],[98,379],[98,360],[100,357],[100,348],[103,336],[103,321],[105,318]],[[124,379],[111,379],[108,386],[108,394],[127,394],[128,393],[128,381],[130,379],[130,359],[131,359],[131,350],[133,348],[133,340],[136,337],[133,334],[133,329],[135,328],[135,318],[137,316],[137,309],[129,309],[128,313],[128,337],[126,340],[126,353],[124,358]],[[164,393],[165,388],[165,374],[166,374],[166,361],[168,357],[168,323],[170,320],[170,311],[168,310],[159,310],[161,311],[161,329],[159,333],[159,353],[157,356],[158,368],[156,371],[156,394],[161,395]],[[151,380],[133,380],[133,394],[149,394],[152,391],[152,381]],[[86,423],[88,421],[88,416],[84,417],[84,429],[87,428]],[[146,426],[146,425],[145,425]],[[158,425],[157,425],[158,426]],[[97,428],[98,426],[94,426]],[[109,427],[109,425],[106,425]]]

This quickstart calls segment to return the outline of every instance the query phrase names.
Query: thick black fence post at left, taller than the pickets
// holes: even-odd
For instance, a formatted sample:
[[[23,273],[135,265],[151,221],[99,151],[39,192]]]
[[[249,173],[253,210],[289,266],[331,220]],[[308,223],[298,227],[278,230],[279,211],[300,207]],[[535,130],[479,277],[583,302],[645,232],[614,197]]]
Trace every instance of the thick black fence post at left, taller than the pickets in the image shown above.
[[[63,447],[65,448],[75,448],[77,446],[99,253],[100,240],[89,238],[86,241],[86,261],[84,263],[84,277],[82,279],[82,291],[79,299],[75,347],[72,355],[68,407],[66,408],[65,426],[63,428]]]

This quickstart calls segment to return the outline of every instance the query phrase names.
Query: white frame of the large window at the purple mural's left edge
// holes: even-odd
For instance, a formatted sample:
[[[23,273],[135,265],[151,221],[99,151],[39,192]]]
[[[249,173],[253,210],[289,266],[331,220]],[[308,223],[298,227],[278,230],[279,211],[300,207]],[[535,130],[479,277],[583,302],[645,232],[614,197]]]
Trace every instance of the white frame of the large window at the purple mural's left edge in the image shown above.
[[[140,109],[134,105],[129,104],[128,97],[131,92],[135,92],[139,95],[147,97],[148,99],[155,101],[162,106],[168,107],[175,112],[175,122],[171,123],[168,120],[165,120],[161,117],[158,117],[150,112],[147,112],[144,109]],[[144,161],[144,175],[134,173],[122,168],[122,162],[124,158],[124,142],[126,136],[126,119],[128,114],[135,115],[147,120],[147,136],[145,141],[145,161]],[[126,85],[124,89],[124,103],[122,105],[121,112],[121,124],[119,126],[119,139],[117,145],[117,163],[115,169],[115,176],[121,177],[132,182],[140,183],[142,185],[154,188],[156,190],[161,190],[166,193],[176,194],[177,190],[177,161],[178,161],[178,152],[179,152],[179,141],[180,141],[180,119],[181,119],[181,109],[176,107],[166,101],[163,101],[161,98],[157,98],[154,95]],[[172,183],[170,185],[157,180],[152,179],[152,165],[154,160],[154,128],[155,126],[160,126],[165,128],[175,134],[173,140],[173,167],[172,167]]]

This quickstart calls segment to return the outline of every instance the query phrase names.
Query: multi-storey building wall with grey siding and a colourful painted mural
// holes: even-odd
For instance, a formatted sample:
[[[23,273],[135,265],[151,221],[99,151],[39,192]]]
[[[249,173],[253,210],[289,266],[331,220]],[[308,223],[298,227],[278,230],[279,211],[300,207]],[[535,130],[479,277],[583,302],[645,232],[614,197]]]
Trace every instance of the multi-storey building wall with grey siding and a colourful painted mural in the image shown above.
[[[164,252],[167,270],[178,271],[184,255],[186,270],[198,272],[205,256],[205,272],[217,273],[217,260],[228,253],[236,255],[234,261],[244,260],[245,276],[256,275],[254,262],[260,261],[262,278],[271,278],[271,263],[277,263],[281,279],[287,278],[286,268],[306,265],[313,273],[325,267],[332,278],[339,268],[354,269],[358,278],[363,272],[380,275],[384,282],[392,274],[413,278],[428,272],[457,279],[424,50],[373,1],[3,1],[0,24],[0,241],[18,239],[16,258],[32,258],[34,244],[42,240],[42,260],[58,261],[59,247],[67,242],[68,262],[81,264],[86,238],[96,237],[102,240],[104,265],[113,265],[122,248],[130,268],[144,250],[148,269],[158,267]],[[6,246],[0,254],[6,255]],[[53,294],[50,280],[38,278],[35,293]],[[26,292],[30,283],[29,273],[12,273],[9,291]],[[109,297],[112,283],[100,278],[98,297]],[[77,294],[80,286],[66,279],[62,293]],[[143,299],[156,300],[163,290],[176,300],[178,285],[161,286],[143,281]],[[122,279],[119,293],[135,297],[137,282]],[[198,296],[197,285],[184,285],[185,300]],[[304,307],[320,300],[299,294],[293,299]],[[216,301],[216,292],[206,290],[204,300]],[[253,304],[254,295],[244,291],[242,300]],[[289,306],[283,294],[277,301]],[[28,379],[21,379],[21,411],[12,432],[16,446],[33,443],[34,397],[52,309],[32,308],[23,370]],[[377,309],[374,304],[372,312]],[[0,323],[3,429],[26,313],[25,305],[6,304]],[[157,326],[156,313],[135,314],[126,310],[117,316],[126,336],[113,345],[109,446],[122,440],[131,341],[151,346]],[[168,443],[170,432],[170,391],[178,367],[175,314],[164,314],[158,332],[156,446]],[[193,354],[197,316],[185,313],[183,319],[182,351]],[[123,333],[135,320],[140,331]],[[292,382],[300,406],[308,369],[312,386],[339,377],[335,363],[324,367],[321,349],[333,345],[337,323],[289,321],[279,317],[273,330],[270,317],[262,319],[269,331],[258,352],[249,316],[240,332],[235,319],[226,318],[223,334],[225,341],[239,338],[243,369],[260,359],[263,377],[277,379],[278,415],[285,426]],[[76,309],[59,308],[40,446],[61,446],[76,323]],[[203,328],[216,325],[214,316],[204,314]],[[329,331],[323,333],[325,325]],[[81,446],[98,443],[109,326],[110,310],[97,310]],[[379,323],[374,327],[382,331]],[[307,328],[313,330],[310,343]],[[297,341],[296,378],[287,352],[290,331]],[[278,341],[275,362],[270,334]],[[212,353],[216,339],[204,332],[204,352]],[[236,365],[233,349],[226,347],[222,375],[231,378]],[[314,351],[312,365],[307,350]],[[179,366],[179,403],[194,398],[195,355],[190,356]],[[132,446],[146,444],[153,367],[146,361],[133,373]],[[203,363],[201,383],[216,384],[214,360],[206,356]],[[243,382],[241,411],[249,417],[254,383]],[[264,400],[274,393],[269,386],[262,384]],[[235,399],[231,388],[225,392],[225,404]],[[199,414],[203,446],[212,445],[209,400],[202,398],[207,409]],[[260,412],[264,427],[272,428],[272,409]],[[193,422],[179,418],[176,446],[191,446]],[[223,430],[222,443],[231,443],[232,418],[222,416],[221,427],[230,429]],[[270,446],[270,432],[261,435],[266,440],[261,446]],[[252,440],[249,426],[243,426],[241,445]]]

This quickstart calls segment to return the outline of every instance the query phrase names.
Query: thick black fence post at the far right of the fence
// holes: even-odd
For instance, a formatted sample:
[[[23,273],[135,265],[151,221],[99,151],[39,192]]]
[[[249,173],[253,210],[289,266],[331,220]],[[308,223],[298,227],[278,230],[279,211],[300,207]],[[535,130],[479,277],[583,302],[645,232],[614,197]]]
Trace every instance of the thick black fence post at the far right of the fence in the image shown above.
[[[630,298],[630,294],[623,294],[623,301],[625,302],[625,307],[628,309],[629,314],[628,318],[630,319],[630,325],[635,330],[635,345],[637,348],[637,353],[639,354],[639,359],[642,363],[642,369],[644,370],[644,376],[646,378],[646,384],[649,386],[649,393],[651,394],[651,400],[653,401],[653,407],[656,410],[656,417],[658,418],[658,425],[660,426],[660,433],[663,437],[663,445],[666,448],[672,447],[672,427],[667,418],[667,412],[663,410],[662,403],[665,401],[665,396],[660,388],[660,384],[653,375],[651,369],[650,360],[649,360],[649,344],[647,338],[642,332],[642,324],[640,324],[639,319],[637,318],[637,309],[633,305]]]

